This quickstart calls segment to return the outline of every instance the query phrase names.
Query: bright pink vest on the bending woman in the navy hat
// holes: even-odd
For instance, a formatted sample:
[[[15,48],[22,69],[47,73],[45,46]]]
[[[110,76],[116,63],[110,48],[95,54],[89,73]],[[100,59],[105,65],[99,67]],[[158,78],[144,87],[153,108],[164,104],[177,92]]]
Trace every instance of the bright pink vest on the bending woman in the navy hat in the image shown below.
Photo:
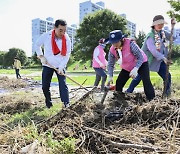
[[[133,55],[131,52],[130,48],[130,39],[125,39],[123,48],[122,48],[122,64],[121,68],[130,72],[135,66],[136,66],[136,57]],[[143,62],[147,61],[147,56],[145,53],[140,49],[141,54],[143,55]],[[114,49],[113,46],[110,48],[110,52],[117,58],[117,53],[116,50]]]

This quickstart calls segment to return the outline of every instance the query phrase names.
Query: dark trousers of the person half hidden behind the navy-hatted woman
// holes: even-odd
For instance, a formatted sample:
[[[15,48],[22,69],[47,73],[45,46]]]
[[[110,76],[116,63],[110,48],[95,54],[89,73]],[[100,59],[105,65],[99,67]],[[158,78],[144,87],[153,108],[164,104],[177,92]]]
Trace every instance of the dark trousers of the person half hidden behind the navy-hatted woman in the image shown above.
[[[104,90],[104,86],[105,86],[105,82],[106,82],[106,79],[107,79],[106,72],[102,68],[94,68],[94,70],[96,72],[96,79],[95,79],[95,82],[94,82],[94,86],[98,86],[99,82],[100,82],[100,80],[102,78],[102,81],[101,81],[101,91],[103,91]]]

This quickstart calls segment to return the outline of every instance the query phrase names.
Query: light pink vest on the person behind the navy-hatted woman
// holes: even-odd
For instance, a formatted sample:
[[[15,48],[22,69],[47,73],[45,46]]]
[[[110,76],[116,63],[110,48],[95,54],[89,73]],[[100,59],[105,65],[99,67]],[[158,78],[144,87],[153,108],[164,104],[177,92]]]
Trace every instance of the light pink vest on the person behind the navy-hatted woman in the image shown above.
[[[107,65],[107,60],[105,59],[106,53],[104,52],[103,48],[100,45],[98,45],[96,48],[99,48],[98,58],[99,58],[100,62],[103,63],[104,66],[106,66]],[[92,66],[94,68],[100,68],[99,63],[94,59],[94,57],[93,57],[93,64],[92,64]]]

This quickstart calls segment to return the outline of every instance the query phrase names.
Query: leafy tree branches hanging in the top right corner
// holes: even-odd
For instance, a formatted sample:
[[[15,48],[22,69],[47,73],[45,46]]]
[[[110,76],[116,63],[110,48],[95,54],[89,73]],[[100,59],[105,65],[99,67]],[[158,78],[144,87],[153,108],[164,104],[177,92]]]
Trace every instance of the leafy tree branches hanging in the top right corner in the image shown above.
[[[172,10],[168,11],[167,13],[171,18],[174,16],[176,20],[180,22],[180,1],[168,0],[168,3],[171,5]]]

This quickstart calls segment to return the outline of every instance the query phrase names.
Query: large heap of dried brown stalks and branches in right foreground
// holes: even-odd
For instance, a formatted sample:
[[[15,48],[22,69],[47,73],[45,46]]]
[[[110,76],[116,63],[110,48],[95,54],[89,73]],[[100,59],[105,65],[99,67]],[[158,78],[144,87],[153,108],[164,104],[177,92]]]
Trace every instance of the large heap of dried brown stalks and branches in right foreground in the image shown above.
[[[147,102],[143,94],[97,94],[63,109],[39,127],[54,139],[76,138],[77,153],[173,153],[180,146],[180,99]],[[106,118],[109,114],[115,117]],[[121,113],[119,116],[116,113]],[[116,118],[118,117],[118,118]],[[173,152],[172,152],[173,150]]]

